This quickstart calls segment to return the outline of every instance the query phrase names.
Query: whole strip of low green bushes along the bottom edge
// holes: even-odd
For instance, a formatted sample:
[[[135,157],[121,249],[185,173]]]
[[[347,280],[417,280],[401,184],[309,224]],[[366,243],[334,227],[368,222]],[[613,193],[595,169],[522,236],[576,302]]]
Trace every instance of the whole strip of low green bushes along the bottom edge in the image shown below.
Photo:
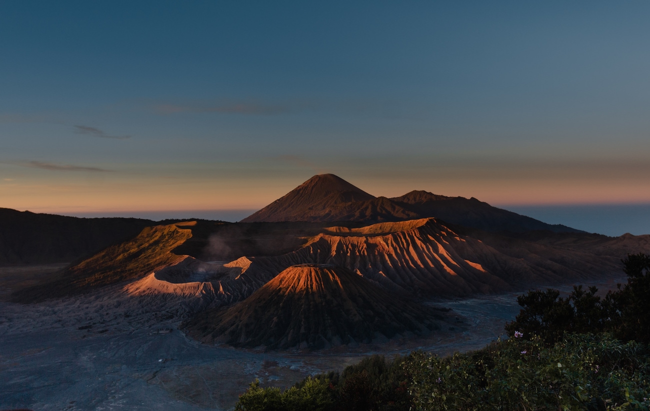
[[[308,377],[284,392],[256,380],[235,409],[650,410],[647,345],[606,333],[567,334],[551,346],[510,338],[447,358],[373,356],[330,376],[336,384]]]

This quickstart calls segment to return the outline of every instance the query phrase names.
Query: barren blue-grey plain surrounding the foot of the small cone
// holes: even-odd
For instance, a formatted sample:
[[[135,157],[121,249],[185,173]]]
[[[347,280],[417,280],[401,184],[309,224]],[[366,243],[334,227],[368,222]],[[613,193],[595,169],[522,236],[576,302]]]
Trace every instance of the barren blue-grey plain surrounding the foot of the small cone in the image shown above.
[[[0,268],[3,292],[15,284],[6,280],[15,279],[16,270]],[[624,279],[593,284],[608,288],[616,280]],[[0,302],[0,409],[228,409],[254,378],[286,387],[365,354],[481,348],[519,312],[519,294],[430,302],[452,308],[458,322],[429,339],[315,353],[201,345],[177,330],[183,301],[128,297],[120,287],[28,306]]]

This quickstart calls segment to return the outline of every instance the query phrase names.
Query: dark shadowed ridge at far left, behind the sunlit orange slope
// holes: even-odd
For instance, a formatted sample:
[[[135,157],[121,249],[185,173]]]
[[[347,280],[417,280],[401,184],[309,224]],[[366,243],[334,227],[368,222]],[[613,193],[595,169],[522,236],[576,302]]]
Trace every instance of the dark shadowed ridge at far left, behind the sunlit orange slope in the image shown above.
[[[133,238],[155,222],[79,219],[0,208],[0,265],[67,263]]]

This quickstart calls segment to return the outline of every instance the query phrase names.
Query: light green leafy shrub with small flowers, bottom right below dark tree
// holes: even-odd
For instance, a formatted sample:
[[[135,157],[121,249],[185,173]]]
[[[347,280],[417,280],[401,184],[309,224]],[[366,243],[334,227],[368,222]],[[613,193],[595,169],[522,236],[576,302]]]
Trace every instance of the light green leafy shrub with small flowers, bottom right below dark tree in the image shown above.
[[[647,347],[610,334],[552,347],[511,338],[477,352],[406,360],[413,410],[648,410]]]

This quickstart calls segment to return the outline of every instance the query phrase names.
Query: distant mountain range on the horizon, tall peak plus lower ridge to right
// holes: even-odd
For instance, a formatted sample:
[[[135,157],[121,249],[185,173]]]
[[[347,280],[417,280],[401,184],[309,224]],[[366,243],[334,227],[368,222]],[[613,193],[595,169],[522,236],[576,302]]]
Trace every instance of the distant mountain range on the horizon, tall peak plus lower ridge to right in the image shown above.
[[[487,232],[581,232],[492,207],[476,198],[440,196],[428,191],[411,191],[395,198],[375,197],[333,174],[313,176],[242,222],[383,222],[426,217]]]

